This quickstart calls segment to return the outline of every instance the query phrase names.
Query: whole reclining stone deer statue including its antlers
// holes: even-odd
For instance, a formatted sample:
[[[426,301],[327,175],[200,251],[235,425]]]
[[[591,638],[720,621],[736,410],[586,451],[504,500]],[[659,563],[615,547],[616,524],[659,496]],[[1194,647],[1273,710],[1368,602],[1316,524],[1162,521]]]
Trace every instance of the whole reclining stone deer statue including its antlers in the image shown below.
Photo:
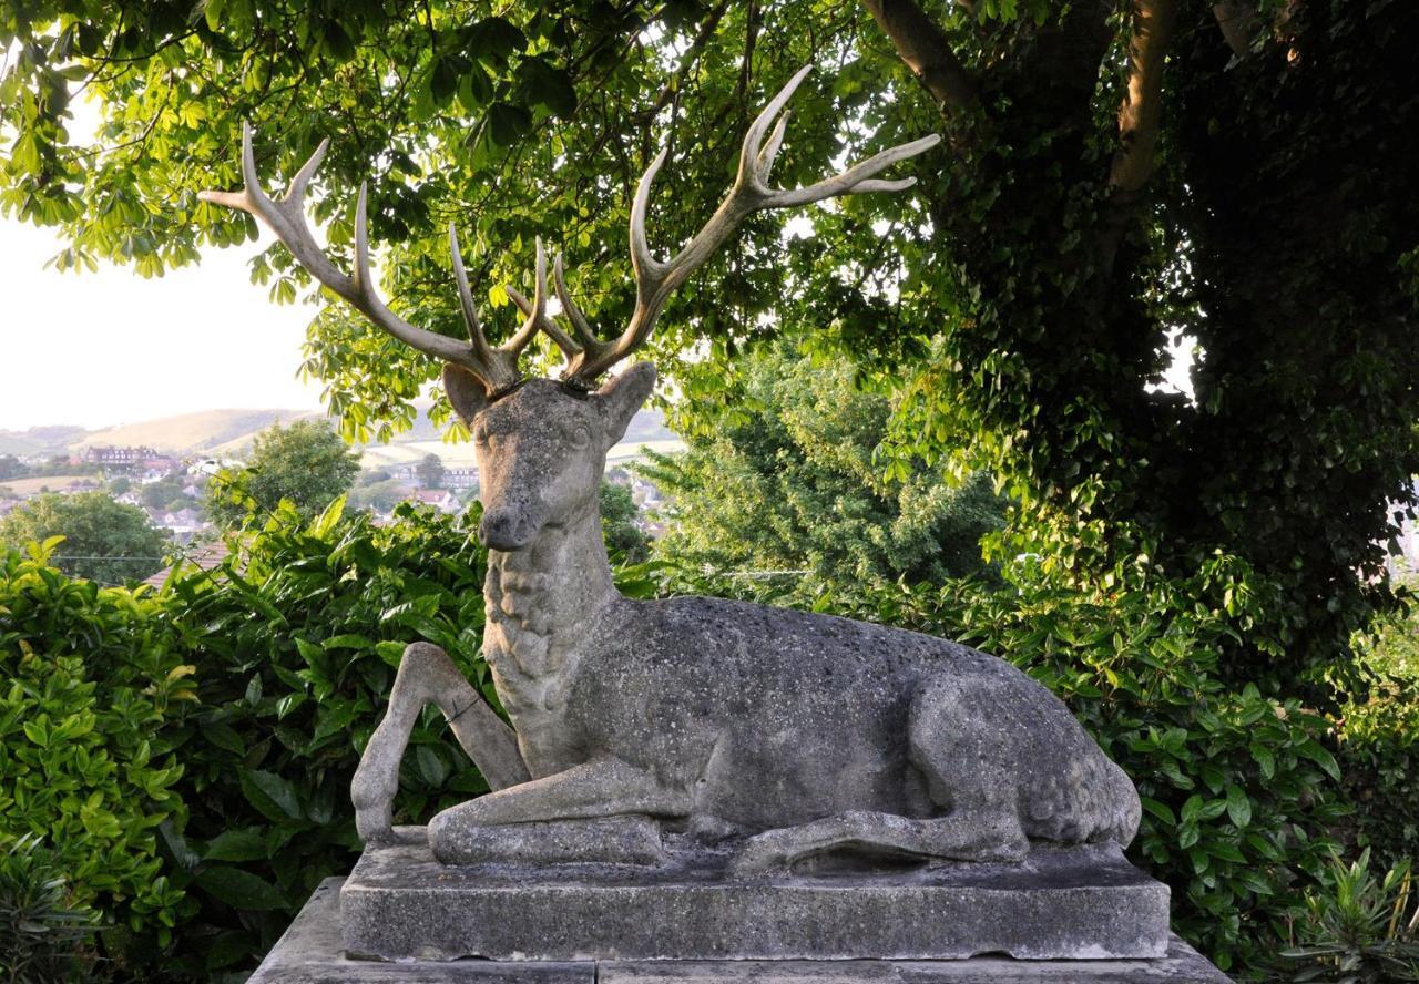
[[[874,176],[938,140],[884,150],[810,187],[771,187],[780,113],[806,74],[752,123],[727,197],[668,261],[646,237],[666,152],[656,157],[630,218],[636,308],[612,342],[573,302],[561,257],[552,279],[570,332],[548,313],[538,242],[535,296],[508,291],[526,320],[491,345],[451,228],[470,340],[400,319],[370,276],[365,189],[352,276],[321,252],[305,221],[302,199],[324,143],[274,201],[260,187],[247,130],[245,187],[203,193],[264,220],[319,282],[443,360],[448,398],[477,442],[478,535],[490,549],[484,654],[512,727],[441,649],[410,645],[352,784],[366,841],[394,837],[399,763],[427,703],[444,712],[492,788],[429,824],[446,863],[657,863],[663,834],[718,844],[745,872],[826,854],[1016,861],[1032,844],[1132,839],[1139,803],[1128,777],[1057,698],[1002,659],[829,615],[717,598],[630,601],[612,584],[597,485],[656,371],[640,363],[599,388],[597,379],[646,340],[670,293],[746,216],[910,187],[914,179]],[[561,380],[518,371],[538,332],[566,356]]]

